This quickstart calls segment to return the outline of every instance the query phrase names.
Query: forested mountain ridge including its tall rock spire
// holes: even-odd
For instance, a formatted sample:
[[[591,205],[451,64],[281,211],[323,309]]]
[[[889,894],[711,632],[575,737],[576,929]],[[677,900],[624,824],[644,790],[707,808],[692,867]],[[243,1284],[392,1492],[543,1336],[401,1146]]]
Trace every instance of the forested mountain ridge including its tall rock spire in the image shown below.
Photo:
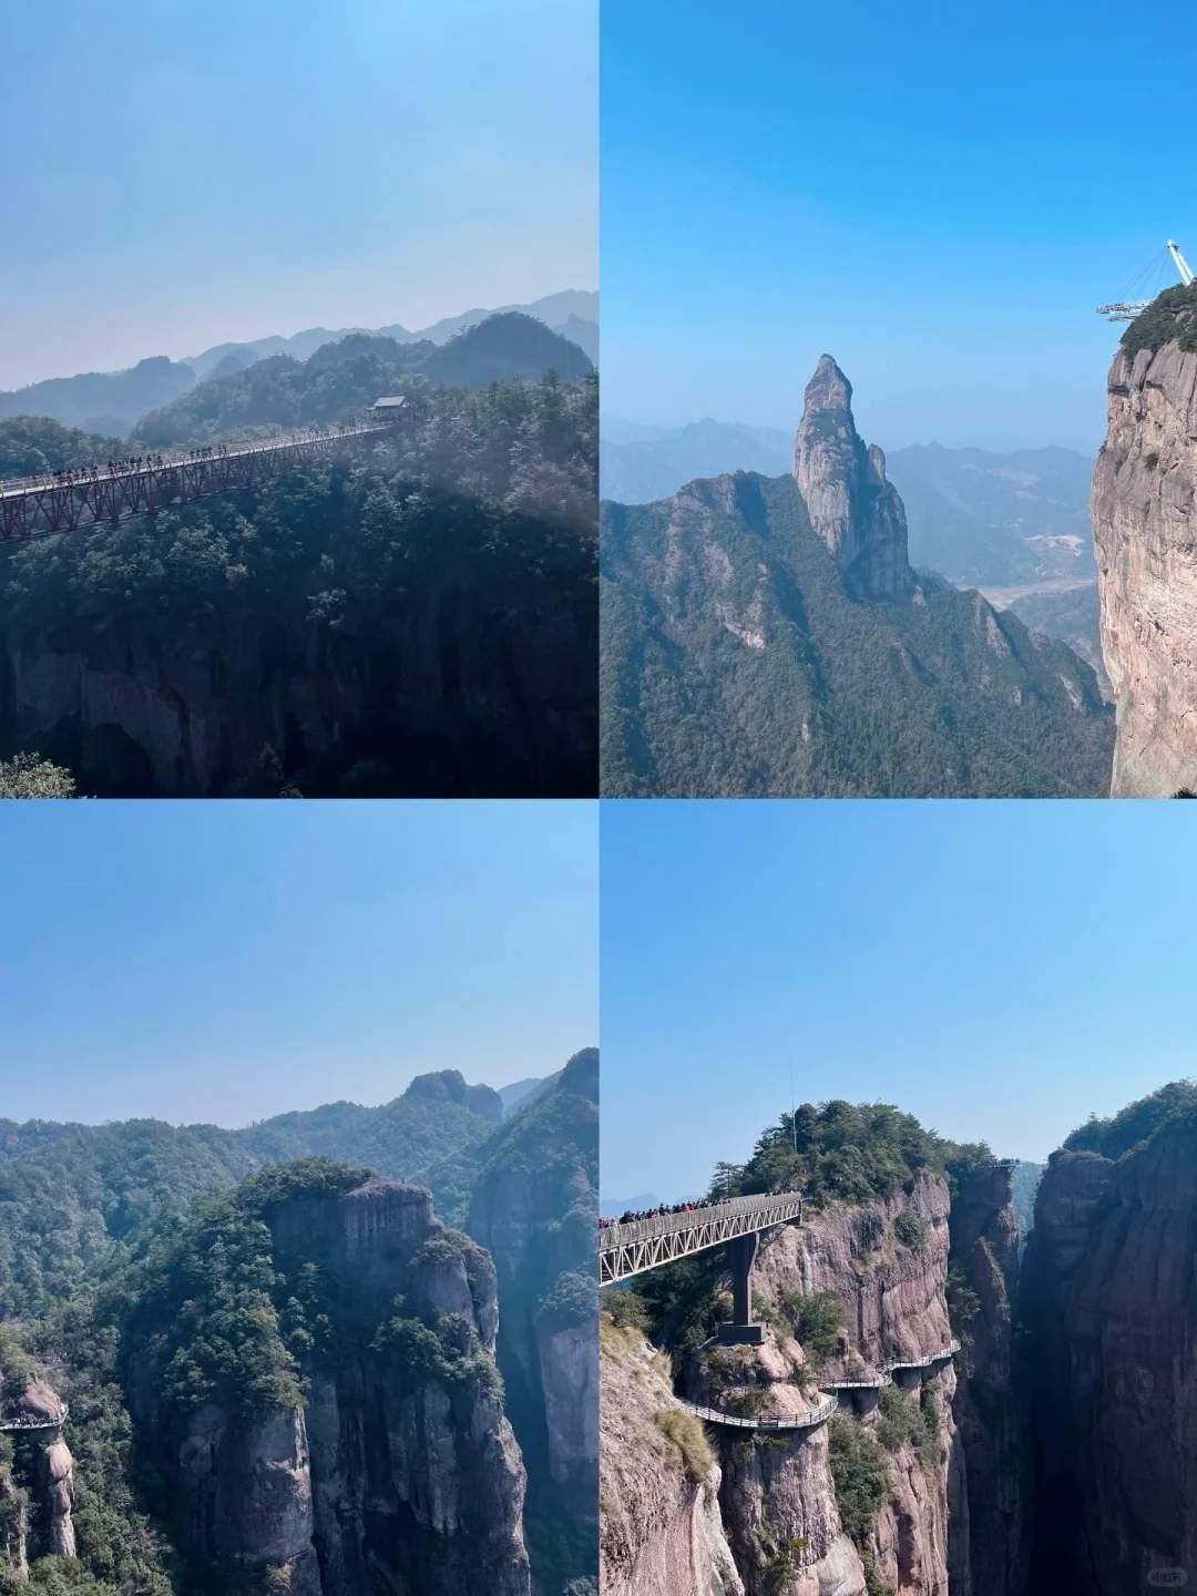
[[[911,571],[828,358],[788,477],[603,509],[611,796],[1104,793],[1112,713],[1066,645]]]

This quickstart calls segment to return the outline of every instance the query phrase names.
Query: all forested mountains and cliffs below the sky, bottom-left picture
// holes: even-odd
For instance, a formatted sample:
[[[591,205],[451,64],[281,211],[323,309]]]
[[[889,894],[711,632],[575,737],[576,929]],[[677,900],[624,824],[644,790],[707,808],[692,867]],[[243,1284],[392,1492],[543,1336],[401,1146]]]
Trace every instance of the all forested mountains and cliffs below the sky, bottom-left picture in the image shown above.
[[[0,1456],[0,1503],[10,1491],[26,1526],[8,1551],[0,1542],[0,1590],[19,1583],[22,1558],[59,1578],[69,1534],[70,1590],[86,1596],[223,1596],[243,1578],[356,1596],[362,1559],[402,1574],[396,1590],[484,1580],[520,1596],[520,1446],[538,1459],[538,1590],[560,1596],[584,1577],[592,1513],[589,1531],[584,1518],[565,1535],[552,1526],[562,1492],[581,1502],[594,1476],[592,1427],[586,1400],[562,1408],[551,1376],[579,1336],[592,1342],[595,1080],[597,1055],[578,1055],[506,1117],[496,1092],[437,1071],[380,1108],[335,1103],[235,1132],[0,1122],[0,1403],[41,1381],[70,1404],[53,1535],[41,1454],[10,1459],[8,1475]],[[530,1163],[544,1211],[517,1203]],[[474,1210],[484,1245],[444,1231],[421,1186],[460,1221]],[[528,1371],[514,1436],[493,1363],[500,1318],[503,1363]],[[380,1451],[397,1456],[383,1432],[407,1436],[413,1422],[393,1464],[402,1481],[380,1475]],[[348,1438],[372,1427],[359,1456]],[[265,1457],[287,1489],[263,1539]],[[334,1502],[358,1492],[410,1502],[412,1518],[396,1510],[354,1539]],[[434,1527],[429,1492],[460,1495],[452,1524]]]

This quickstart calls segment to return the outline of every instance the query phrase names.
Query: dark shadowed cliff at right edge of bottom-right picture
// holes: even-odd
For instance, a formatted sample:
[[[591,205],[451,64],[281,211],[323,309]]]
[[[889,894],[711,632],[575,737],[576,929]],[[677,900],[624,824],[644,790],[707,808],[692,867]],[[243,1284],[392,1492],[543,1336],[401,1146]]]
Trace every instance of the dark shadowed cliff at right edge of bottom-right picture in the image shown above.
[[[1192,1578],[1195,1256],[1192,1125],[1167,1125],[1117,1163],[1052,1157],[1026,1285],[1041,1373],[1036,1588],[1124,1596],[1181,1583],[1175,1570]]]

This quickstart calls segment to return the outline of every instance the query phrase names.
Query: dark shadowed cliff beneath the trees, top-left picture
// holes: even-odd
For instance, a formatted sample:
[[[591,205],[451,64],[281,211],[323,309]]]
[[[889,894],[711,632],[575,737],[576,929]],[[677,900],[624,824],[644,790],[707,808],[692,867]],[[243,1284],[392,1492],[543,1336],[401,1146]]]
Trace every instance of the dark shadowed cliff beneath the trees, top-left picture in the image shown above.
[[[0,744],[96,796],[252,793],[265,747],[311,793],[383,760],[413,793],[592,793],[595,627],[559,594],[468,573],[402,594],[383,640],[353,621],[212,619],[171,638],[10,626]]]

